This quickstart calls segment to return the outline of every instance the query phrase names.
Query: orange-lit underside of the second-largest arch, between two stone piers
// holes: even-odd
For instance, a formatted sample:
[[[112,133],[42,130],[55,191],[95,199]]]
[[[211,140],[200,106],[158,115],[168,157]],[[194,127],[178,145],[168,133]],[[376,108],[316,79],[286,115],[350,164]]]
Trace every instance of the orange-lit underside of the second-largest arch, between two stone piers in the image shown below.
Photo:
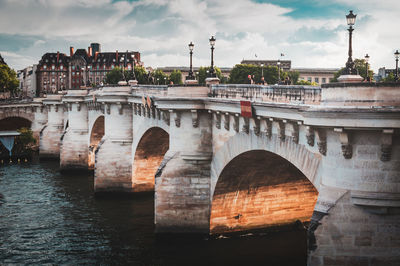
[[[169,149],[169,134],[160,127],[151,127],[140,138],[133,159],[134,192],[154,191],[155,174]]]

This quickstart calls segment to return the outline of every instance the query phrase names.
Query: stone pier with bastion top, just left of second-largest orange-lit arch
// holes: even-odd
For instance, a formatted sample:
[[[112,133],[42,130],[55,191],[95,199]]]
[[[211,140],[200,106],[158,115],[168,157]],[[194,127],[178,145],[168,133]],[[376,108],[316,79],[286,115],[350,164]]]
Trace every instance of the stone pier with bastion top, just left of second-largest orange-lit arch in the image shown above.
[[[127,103],[130,87],[103,89],[105,134],[95,150],[94,190],[132,192],[132,108]],[[118,94],[118,99],[109,99]]]

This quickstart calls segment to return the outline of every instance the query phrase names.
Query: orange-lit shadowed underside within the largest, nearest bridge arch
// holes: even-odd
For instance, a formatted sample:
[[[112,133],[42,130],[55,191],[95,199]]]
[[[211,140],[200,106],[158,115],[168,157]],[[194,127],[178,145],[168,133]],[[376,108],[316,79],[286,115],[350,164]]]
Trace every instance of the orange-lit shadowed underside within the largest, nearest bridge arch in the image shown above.
[[[211,203],[210,233],[309,222],[318,198],[310,180],[283,157],[252,150],[222,170]]]

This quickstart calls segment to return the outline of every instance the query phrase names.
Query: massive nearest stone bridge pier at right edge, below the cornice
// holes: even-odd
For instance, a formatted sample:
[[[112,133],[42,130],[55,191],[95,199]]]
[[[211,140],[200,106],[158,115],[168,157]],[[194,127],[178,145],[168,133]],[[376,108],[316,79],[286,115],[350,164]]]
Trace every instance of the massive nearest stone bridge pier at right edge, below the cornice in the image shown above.
[[[327,132],[324,188],[309,229],[308,265],[400,262],[400,145],[390,144],[390,159],[382,158],[386,143],[392,143],[387,136],[392,131],[387,132],[351,132],[345,146],[351,144],[351,158],[343,132]],[[393,140],[398,137],[394,133]]]

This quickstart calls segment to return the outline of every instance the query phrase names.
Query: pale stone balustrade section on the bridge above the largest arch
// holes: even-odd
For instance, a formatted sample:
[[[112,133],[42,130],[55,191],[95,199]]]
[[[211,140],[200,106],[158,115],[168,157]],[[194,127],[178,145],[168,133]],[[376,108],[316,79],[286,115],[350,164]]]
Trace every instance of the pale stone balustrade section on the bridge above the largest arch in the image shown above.
[[[211,86],[211,97],[318,105],[321,100],[321,88],[301,85],[219,84]]]

